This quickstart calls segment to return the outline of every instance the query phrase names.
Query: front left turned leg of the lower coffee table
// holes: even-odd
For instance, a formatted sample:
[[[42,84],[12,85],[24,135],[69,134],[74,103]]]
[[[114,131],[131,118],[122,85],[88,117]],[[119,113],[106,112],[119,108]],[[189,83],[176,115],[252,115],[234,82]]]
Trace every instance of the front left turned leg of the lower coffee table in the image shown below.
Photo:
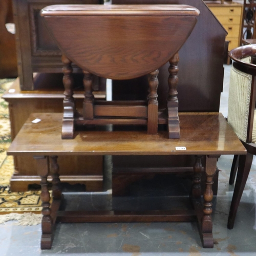
[[[51,249],[53,239],[53,222],[50,209],[50,193],[48,190],[47,177],[49,175],[49,157],[34,156],[37,163],[37,173],[41,178],[41,195],[42,201],[42,236],[41,249]]]

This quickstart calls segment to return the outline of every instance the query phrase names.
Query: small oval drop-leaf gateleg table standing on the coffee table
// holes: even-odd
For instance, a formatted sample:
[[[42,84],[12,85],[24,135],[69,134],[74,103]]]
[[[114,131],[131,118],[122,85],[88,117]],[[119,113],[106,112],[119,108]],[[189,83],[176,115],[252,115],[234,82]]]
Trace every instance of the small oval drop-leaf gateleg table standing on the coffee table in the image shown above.
[[[62,52],[62,138],[73,139],[81,124],[147,124],[157,134],[167,123],[169,138],[180,138],[178,117],[178,50],[193,30],[199,11],[185,5],[56,5],[41,11],[45,24]],[[167,113],[158,113],[158,68],[169,61]],[[82,114],[72,98],[74,62],[84,73]],[[148,102],[97,102],[92,74],[110,79],[148,75]],[[185,73],[184,73],[185,75]]]

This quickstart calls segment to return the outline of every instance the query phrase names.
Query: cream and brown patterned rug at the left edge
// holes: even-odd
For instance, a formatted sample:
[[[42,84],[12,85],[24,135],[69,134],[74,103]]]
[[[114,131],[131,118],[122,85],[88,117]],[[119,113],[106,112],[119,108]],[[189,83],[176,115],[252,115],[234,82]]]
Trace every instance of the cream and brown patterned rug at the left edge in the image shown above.
[[[12,156],[6,155],[6,150],[11,143],[10,121],[8,103],[1,96],[10,88],[14,80],[0,79],[0,215],[10,212],[39,214],[41,211],[40,191],[11,192],[10,190],[10,178],[14,170]]]

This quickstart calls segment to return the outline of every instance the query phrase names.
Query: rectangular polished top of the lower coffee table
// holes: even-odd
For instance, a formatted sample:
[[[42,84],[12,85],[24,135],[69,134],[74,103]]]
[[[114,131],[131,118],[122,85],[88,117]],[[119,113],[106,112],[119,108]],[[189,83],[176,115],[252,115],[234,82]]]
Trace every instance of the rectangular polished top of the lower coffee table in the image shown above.
[[[246,150],[220,113],[179,113],[180,139],[167,130],[148,135],[129,131],[91,129],[61,139],[62,114],[31,114],[12,142],[8,155],[243,155]],[[34,119],[41,119],[32,123]],[[102,127],[103,128],[103,127]],[[186,147],[177,150],[176,147]]]

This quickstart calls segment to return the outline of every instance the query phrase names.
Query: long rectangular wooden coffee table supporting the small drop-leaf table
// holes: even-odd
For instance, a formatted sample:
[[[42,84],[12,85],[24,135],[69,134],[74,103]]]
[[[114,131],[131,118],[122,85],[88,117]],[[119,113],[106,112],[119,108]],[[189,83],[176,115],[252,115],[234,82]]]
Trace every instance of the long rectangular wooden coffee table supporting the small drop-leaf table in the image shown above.
[[[35,118],[41,119],[32,123]],[[198,221],[203,247],[214,246],[212,237],[212,178],[220,155],[244,155],[246,150],[219,113],[180,113],[180,139],[168,139],[167,131],[148,135],[146,130],[77,132],[73,140],[61,139],[61,113],[31,114],[12,142],[8,155],[33,155],[41,177],[41,248],[50,249],[54,226],[58,222],[185,222]],[[103,127],[102,127],[103,128]],[[118,131],[120,130],[120,131]],[[186,147],[178,150],[176,147]],[[65,211],[56,155],[195,155],[191,202],[194,210],[157,211]],[[202,166],[202,158],[206,164]],[[201,172],[206,173],[206,188],[201,201]],[[53,202],[50,205],[47,177],[51,172]]]

